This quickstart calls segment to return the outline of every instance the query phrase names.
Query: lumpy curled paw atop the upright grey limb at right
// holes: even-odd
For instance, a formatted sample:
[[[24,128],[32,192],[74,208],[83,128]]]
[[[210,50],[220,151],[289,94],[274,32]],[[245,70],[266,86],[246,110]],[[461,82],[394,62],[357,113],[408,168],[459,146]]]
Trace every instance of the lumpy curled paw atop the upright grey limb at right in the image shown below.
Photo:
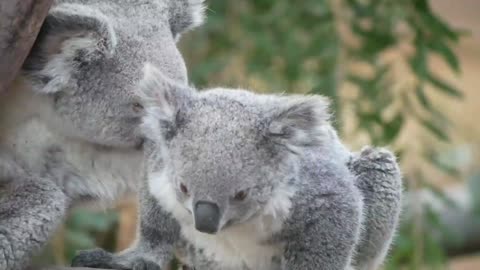
[[[395,155],[391,151],[372,146],[363,147],[359,154],[351,158],[348,166],[357,172],[371,170],[386,174],[399,172]]]

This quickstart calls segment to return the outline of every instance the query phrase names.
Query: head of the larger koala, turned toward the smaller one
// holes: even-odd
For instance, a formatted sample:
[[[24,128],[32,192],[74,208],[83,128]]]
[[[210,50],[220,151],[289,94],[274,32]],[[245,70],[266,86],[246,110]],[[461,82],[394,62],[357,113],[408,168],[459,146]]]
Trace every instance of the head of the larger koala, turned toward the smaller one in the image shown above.
[[[201,0],[56,1],[23,66],[66,136],[135,147],[144,112],[136,88],[145,62],[187,82],[176,41],[201,23]]]

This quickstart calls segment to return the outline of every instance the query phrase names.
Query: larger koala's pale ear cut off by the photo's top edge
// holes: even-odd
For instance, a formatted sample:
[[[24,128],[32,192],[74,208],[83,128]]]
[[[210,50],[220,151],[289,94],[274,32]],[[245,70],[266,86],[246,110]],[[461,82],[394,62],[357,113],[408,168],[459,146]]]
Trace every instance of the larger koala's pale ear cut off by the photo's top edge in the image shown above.
[[[173,0],[170,3],[170,27],[175,38],[203,23],[204,0]]]

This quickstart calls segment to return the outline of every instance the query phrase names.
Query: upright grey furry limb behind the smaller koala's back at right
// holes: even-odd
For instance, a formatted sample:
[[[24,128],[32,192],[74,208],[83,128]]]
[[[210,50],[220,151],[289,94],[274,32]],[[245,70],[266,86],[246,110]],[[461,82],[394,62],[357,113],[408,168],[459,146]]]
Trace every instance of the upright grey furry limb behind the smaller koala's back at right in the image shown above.
[[[365,147],[348,162],[364,195],[365,221],[355,269],[378,269],[388,253],[399,223],[402,183],[395,156],[385,149]]]

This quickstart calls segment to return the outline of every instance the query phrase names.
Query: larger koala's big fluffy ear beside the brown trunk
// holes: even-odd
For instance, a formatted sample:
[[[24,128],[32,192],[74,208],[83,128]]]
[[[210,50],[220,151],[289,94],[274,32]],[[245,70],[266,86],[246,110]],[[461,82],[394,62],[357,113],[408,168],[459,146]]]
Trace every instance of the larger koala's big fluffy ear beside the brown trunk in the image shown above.
[[[36,91],[58,92],[76,68],[111,56],[116,43],[112,23],[100,11],[80,4],[61,4],[45,18],[23,73]]]

